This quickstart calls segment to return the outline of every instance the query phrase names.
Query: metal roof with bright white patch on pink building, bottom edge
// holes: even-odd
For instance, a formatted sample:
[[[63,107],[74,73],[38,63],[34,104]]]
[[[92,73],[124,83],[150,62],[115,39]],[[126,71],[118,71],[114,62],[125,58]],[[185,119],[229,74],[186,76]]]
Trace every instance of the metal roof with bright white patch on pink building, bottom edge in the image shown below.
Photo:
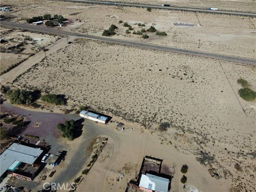
[[[147,173],[141,175],[139,186],[157,192],[168,192],[169,180]]]

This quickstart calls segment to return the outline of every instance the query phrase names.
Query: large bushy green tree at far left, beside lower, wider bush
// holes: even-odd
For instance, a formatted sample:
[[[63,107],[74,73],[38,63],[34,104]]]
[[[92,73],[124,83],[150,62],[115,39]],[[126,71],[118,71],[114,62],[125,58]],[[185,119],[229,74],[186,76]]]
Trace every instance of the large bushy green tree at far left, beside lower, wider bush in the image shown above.
[[[12,104],[32,104],[36,100],[33,92],[27,90],[8,90],[6,96]]]

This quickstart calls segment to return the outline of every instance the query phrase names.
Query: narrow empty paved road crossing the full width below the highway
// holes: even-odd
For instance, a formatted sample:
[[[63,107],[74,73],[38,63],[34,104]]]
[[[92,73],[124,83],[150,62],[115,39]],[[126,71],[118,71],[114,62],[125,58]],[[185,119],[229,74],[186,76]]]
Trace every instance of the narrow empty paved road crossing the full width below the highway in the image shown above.
[[[241,63],[241,64],[256,65],[256,60],[250,59],[250,58],[228,56],[228,55],[223,55],[223,54],[203,52],[203,51],[197,51],[197,50],[188,50],[188,49],[176,48],[176,47],[172,47],[172,46],[147,44],[147,43],[143,43],[143,42],[126,41],[126,40],[120,40],[120,39],[116,39],[116,38],[107,38],[107,37],[103,37],[103,36],[86,35],[86,34],[80,34],[80,33],[76,33],[76,32],[68,32],[68,31],[58,30],[56,28],[49,28],[46,26],[36,26],[36,25],[31,25],[31,24],[18,24],[15,22],[6,22],[6,21],[1,21],[0,25],[12,27],[12,28],[21,28],[21,29],[31,30],[31,31],[35,31],[35,32],[50,33],[50,34],[61,35],[61,36],[74,36],[74,37],[79,37],[79,38],[88,38],[88,39],[92,39],[92,40],[121,44],[121,45],[126,45],[126,46],[148,48],[148,49],[153,49],[153,50],[162,50],[162,51],[167,51],[167,52],[174,52],[174,53],[187,54],[187,55],[199,56],[199,57],[204,57],[204,58],[218,59],[218,60],[236,62],[236,63]]]

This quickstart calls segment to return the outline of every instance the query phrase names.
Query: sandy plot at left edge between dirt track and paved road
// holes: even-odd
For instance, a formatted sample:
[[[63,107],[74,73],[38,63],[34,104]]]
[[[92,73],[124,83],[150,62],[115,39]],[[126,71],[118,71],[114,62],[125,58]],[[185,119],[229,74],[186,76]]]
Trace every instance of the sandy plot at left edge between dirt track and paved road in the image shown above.
[[[60,39],[58,36],[32,33],[24,30],[13,30],[1,27],[0,37],[6,42],[1,43],[1,74],[13,65],[25,61],[33,54]],[[26,44],[25,44],[25,42]],[[8,49],[9,46],[23,44],[20,48]]]

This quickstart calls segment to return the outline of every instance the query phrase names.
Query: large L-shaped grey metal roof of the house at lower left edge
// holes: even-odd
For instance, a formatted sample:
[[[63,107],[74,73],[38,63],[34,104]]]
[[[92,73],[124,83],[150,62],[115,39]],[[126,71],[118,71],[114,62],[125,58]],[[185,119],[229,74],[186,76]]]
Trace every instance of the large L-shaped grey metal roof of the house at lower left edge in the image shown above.
[[[13,143],[0,156],[1,176],[15,161],[24,162],[27,164],[33,164],[42,152],[43,150],[40,150],[40,149]]]

